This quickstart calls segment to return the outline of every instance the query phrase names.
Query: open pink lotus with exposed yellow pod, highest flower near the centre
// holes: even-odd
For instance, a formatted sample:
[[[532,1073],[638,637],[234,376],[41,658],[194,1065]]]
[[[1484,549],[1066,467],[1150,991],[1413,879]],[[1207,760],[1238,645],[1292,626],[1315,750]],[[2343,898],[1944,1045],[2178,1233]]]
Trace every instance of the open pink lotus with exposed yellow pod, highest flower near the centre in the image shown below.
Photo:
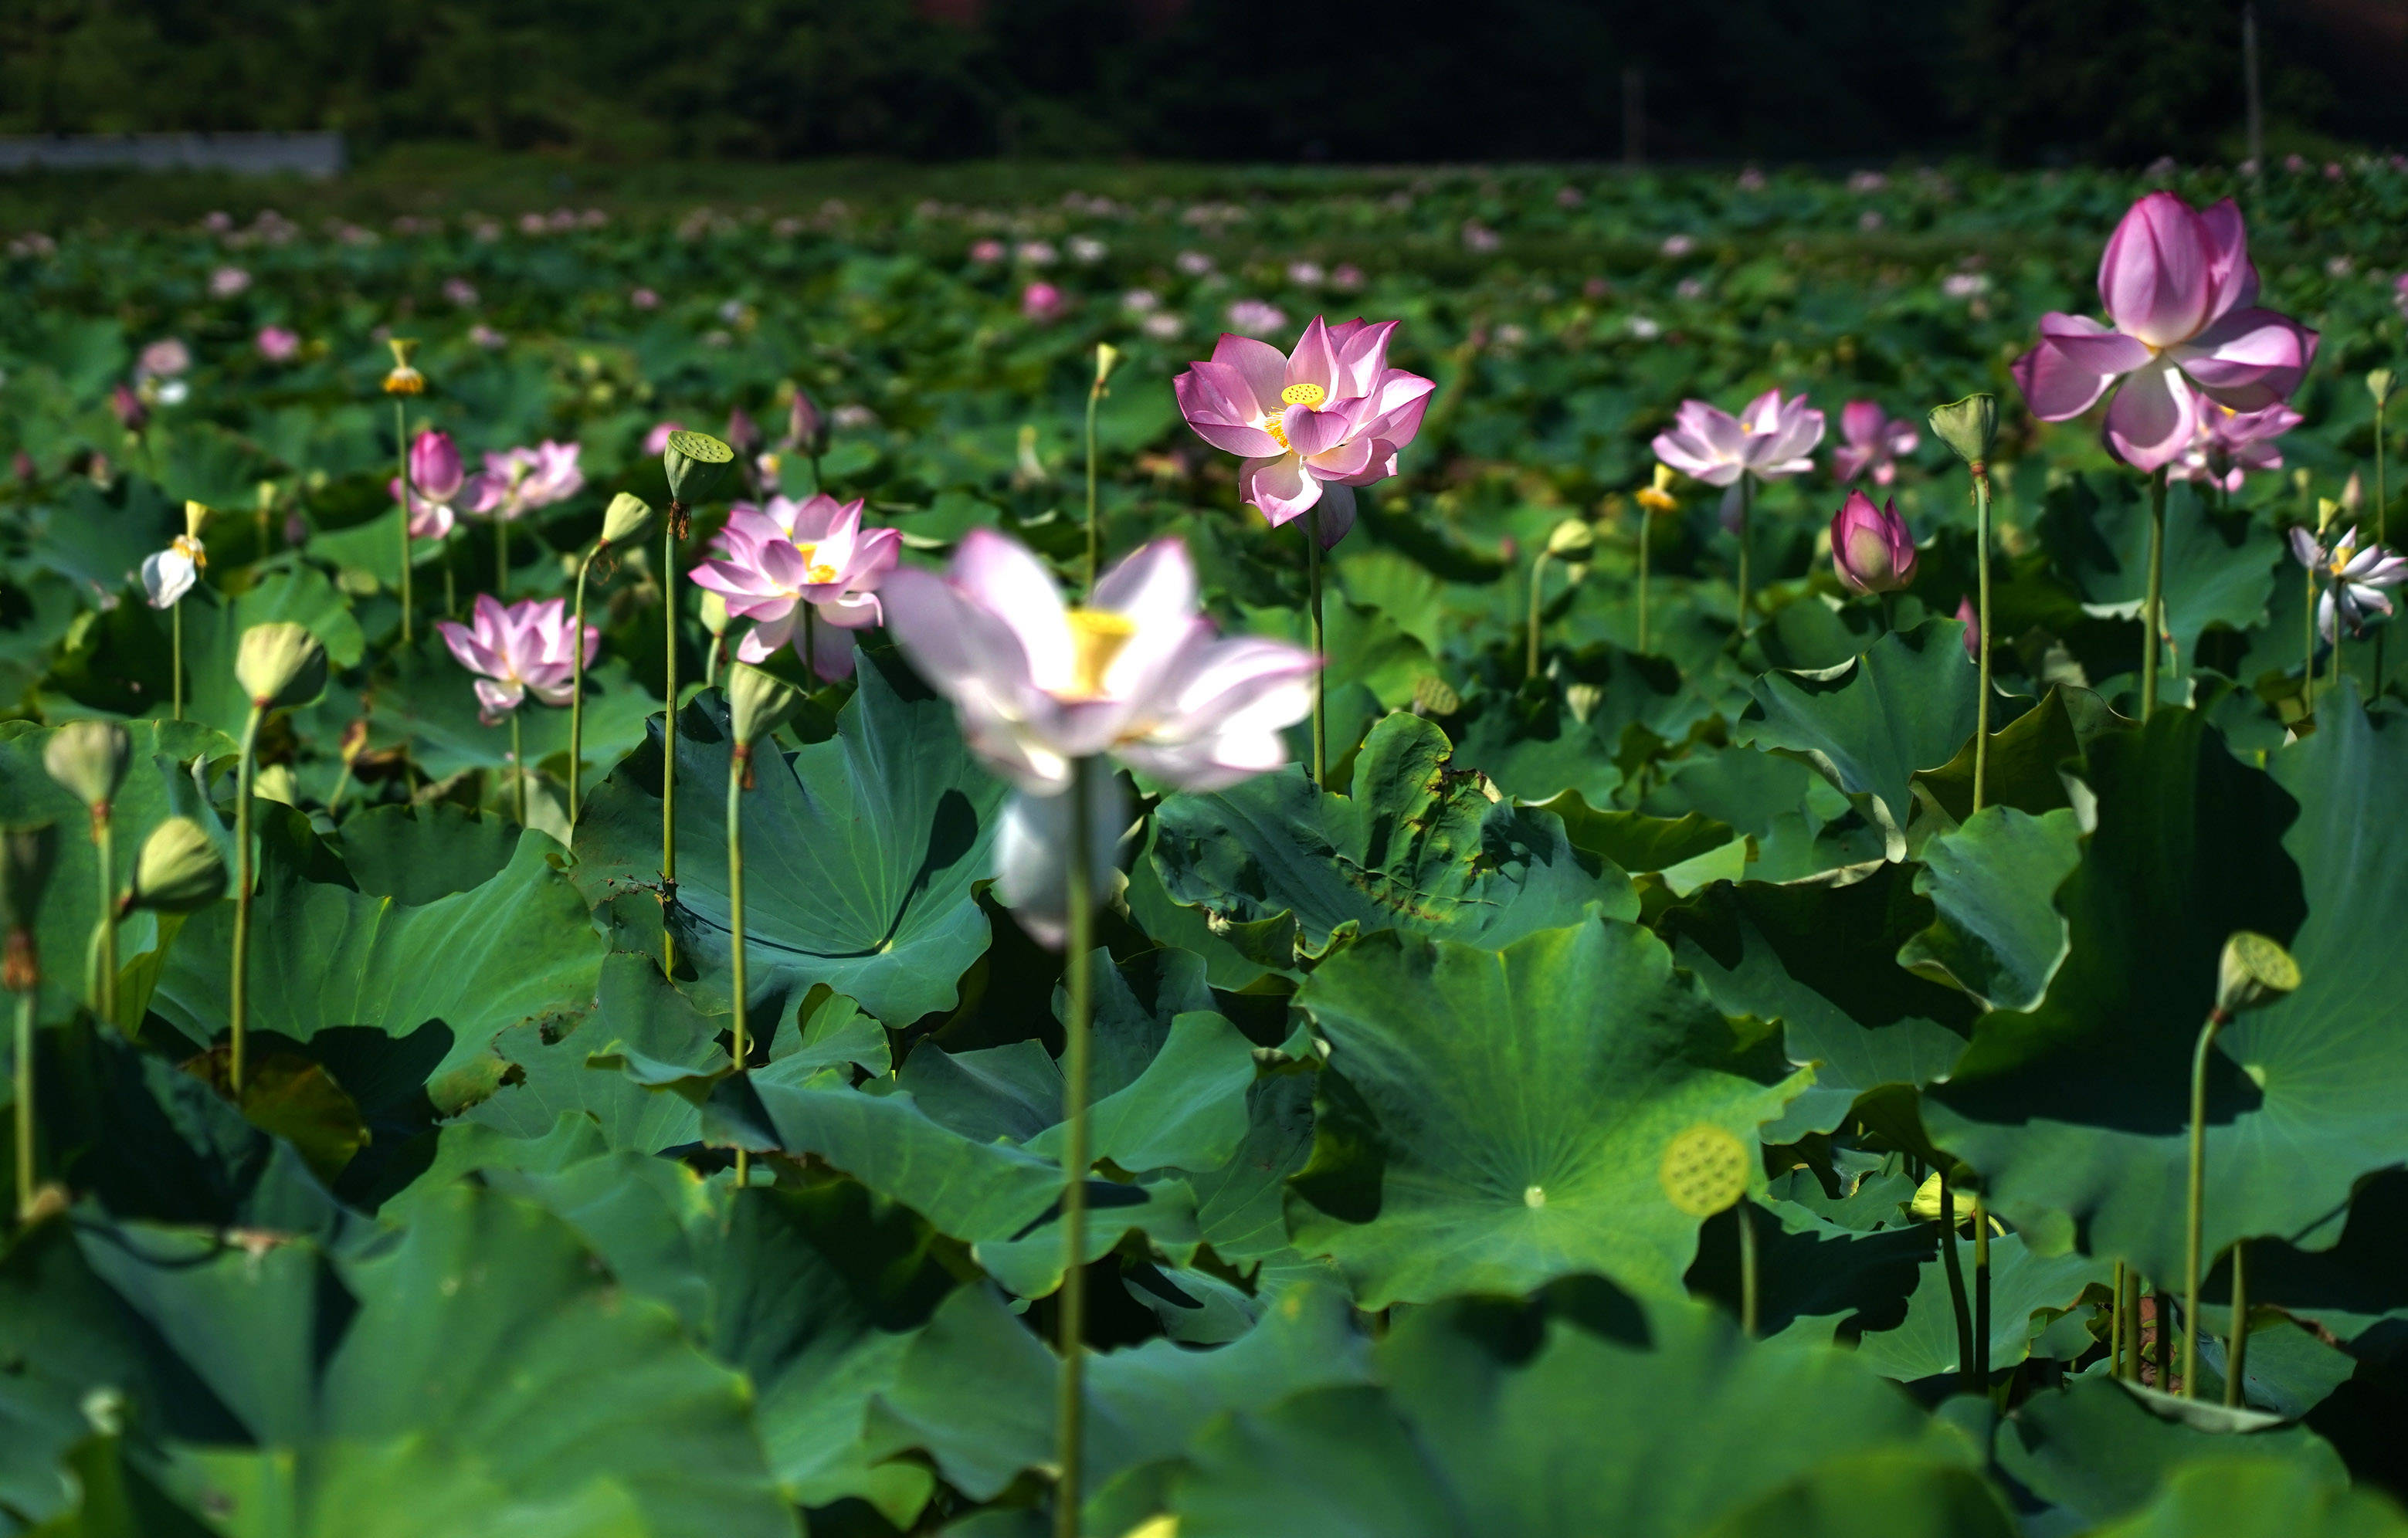
[[[1327,549],[1353,527],[1353,489],[1397,474],[1438,385],[1387,366],[1394,330],[1394,320],[1327,325],[1315,315],[1296,354],[1223,332],[1211,361],[1173,380],[1187,426],[1245,455],[1238,493],[1271,527],[1320,508]]]

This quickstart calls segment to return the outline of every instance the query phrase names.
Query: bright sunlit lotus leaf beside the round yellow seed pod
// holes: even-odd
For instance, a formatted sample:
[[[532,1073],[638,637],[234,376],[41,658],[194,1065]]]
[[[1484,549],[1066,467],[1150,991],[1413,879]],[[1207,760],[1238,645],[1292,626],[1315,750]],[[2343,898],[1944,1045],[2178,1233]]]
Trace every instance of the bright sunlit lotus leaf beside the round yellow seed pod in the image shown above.
[[[1503,951],[1377,934],[1298,1001],[1329,1064],[1288,1232],[1370,1309],[1575,1271],[1678,1292],[1698,1218],[1664,1194],[1666,1141],[1712,1124],[1753,1146],[1811,1078],[1616,919]]]

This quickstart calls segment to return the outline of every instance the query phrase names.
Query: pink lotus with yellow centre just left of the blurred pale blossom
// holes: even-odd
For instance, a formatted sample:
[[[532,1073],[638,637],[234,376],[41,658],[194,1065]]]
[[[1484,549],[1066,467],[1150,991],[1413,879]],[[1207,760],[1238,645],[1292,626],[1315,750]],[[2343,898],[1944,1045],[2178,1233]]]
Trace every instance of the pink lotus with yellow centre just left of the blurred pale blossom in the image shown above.
[[[737,662],[766,662],[795,643],[804,607],[821,626],[809,635],[807,662],[824,679],[852,676],[852,631],[879,623],[879,582],[903,554],[896,530],[864,530],[862,503],[833,496],[768,508],[737,503],[713,539],[718,558],[694,568],[694,582],[727,599],[727,614],[754,621],[737,643]]]

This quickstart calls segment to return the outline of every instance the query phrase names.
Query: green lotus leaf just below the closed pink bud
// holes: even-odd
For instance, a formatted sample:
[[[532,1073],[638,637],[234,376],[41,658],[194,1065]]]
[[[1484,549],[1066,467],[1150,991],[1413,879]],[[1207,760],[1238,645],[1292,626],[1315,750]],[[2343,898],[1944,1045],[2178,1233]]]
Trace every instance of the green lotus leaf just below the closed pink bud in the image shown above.
[[[1958,621],[1929,619],[1835,669],[1765,674],[1734,737],[1801,753],[1840,789],[1871,794],[1902,854],[1914,773],[1946,765],[1975,729],[1979,674],[1963,635]]]

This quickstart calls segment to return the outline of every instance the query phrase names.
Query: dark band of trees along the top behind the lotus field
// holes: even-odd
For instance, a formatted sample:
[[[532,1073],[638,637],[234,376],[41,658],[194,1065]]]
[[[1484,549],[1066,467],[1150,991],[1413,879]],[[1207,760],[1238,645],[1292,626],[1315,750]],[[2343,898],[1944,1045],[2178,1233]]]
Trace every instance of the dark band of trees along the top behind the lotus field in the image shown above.
[[[2235,154],[2239,0],[0,0],[0,130],[600,159]],[[2408,137],[2408,2],[2261,0],[2273,142]]]

